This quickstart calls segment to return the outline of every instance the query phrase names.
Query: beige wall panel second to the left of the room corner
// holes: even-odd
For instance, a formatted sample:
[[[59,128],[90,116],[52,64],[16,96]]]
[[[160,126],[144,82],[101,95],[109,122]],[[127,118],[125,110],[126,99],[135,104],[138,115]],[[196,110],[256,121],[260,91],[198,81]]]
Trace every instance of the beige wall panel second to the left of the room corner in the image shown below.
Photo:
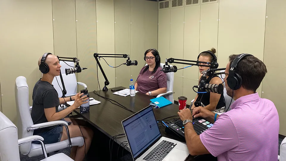
[[[130,0],[114,0],[115,53],[130,55]],[[127,59],[116,58],[115,66]],[[130,59],[133,60],[133,59]],[[121,65],[115,68],[116,86],[129,87],[131,67]],[[135,81],[135,80],[134,80]]]

